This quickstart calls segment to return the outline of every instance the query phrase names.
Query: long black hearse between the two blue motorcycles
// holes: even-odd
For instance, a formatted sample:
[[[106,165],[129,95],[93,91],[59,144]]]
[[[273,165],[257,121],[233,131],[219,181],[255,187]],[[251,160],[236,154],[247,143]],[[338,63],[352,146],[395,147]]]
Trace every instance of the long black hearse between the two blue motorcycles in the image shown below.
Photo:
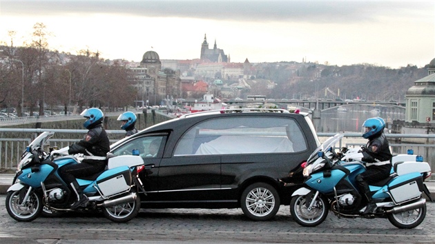
[[[264,221],[302,183],[300,165],[320,145],[313,128],[308,114],[287,110],[197,112],[122,139],[110,152],[135,150],[154,166],[139,174],[142,207],[241,207]]]

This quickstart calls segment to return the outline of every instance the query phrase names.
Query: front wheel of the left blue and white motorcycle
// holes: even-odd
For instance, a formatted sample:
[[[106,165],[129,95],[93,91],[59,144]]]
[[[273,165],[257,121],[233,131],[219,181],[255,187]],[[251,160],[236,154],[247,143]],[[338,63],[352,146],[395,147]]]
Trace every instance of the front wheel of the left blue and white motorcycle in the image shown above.
[[[31,192],[25,203],[19,203],[19,192],[8,192],[6,210],[16,221],[30,222],[35,220],[42,211],[42,199],[37,192]]]

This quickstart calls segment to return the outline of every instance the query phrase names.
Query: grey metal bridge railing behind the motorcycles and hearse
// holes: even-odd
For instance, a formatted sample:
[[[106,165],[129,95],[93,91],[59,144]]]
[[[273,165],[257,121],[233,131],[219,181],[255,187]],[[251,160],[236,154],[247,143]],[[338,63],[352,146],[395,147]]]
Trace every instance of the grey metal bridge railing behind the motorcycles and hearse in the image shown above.
[[[26,146],[38,136],[41,132],[52,131],[55,134],[64,134],[56,138],[53,136],[49,143],[50,146],[57,146],[58,148],[66,147],[72,143],[79,141],[82,135],[86,134],[87,130],[53,130],[53,129],[6,129],[0,128],[0,132],[10,132],[9,134],[27,134],[28,136],[21,136],[25,138],[17,138],[18,136],[9,136],[10,138],[0,138],[0,172],[14,170],[17,167],[17,163],[21,158],[21,154],[25,150]],[[124,134],[124,130],[106,130],[109,134]],[[3,133],[4,134],[4,133]],[[76,134],[74,138],[64,138],[65,135]],[[335,133],[318,133],[320,141],[325,141],[329,136],[334,136]],[[367,139],[363,139],[359,133],[342,133],[344,137],[340,141],[337,148],[347,147],[359,147],[365,145]],[[392,148],[393,154],[407,153],[408,149],[414,150],[414,154],[422,155],[425,161],[431,164],[431,167],[435,167],[435,144],[429,143],[435,139],[435,134],[386,134],[389,139],[389,145]],[[420,140],[417,143],[402,143],[403,139]],[[115,143],[117,139],[110,140],[111,143]]]

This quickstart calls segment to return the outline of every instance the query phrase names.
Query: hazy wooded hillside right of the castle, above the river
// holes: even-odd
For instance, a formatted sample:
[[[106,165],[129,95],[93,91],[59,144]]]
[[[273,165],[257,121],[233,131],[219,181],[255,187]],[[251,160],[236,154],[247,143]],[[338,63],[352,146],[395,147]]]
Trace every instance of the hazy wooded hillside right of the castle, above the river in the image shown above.
[[[276,83],[268,90],[269,98],[302,99],[340,96],[342,99],[403,101],[414,81],[427,76],[427,68],[408,65],[400,69],[358,64],[345,66],[315,63],[260,63],[255,65],[256,78]],[[251,92],[252,93],[252,92]],[[339,93],[339,94],[338,94]]]

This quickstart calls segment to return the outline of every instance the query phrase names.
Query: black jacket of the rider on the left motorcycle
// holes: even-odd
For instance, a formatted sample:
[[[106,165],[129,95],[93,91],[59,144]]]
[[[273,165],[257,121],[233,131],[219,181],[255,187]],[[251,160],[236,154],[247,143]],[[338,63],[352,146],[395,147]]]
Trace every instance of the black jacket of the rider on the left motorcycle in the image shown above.
[[[90,128],[84,139],[70,145],[68,154],[82,153],[87,156],[106,156],[110,151],[110,141],[103,125]]]

